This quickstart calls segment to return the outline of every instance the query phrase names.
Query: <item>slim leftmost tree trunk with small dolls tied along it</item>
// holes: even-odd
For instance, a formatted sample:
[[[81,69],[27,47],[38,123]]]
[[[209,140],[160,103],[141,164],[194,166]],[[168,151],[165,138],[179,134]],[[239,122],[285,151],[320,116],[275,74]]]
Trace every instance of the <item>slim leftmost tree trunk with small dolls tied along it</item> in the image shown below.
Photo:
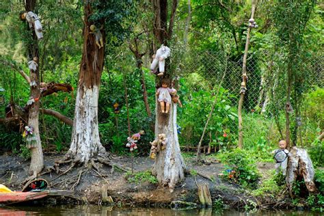
[[[35,0],[27,0],[25,3],[25,10],[27,12],[32,11],[34,12],[36,6]],[[27,31],[32,31],[32,42],[28,44],[27,55],[28,55],[28,62],[33,59],[33,57],[37,57],[39,59],[39,51],[38,51],[38,38],[36,36],[35,31],[33,28],[29,28],[27,24]],[[38,61],[39,63],[39,61]],[[39,65],[36,71],[30,70],[30,81],[36,81],[36,87],[30,87],[30,96],[33,98],[40,98],[40,71]],[[38,124],[38,117],[39,117],[39,109],[40,109],[40,102],[39,100],[36,101],[31,105],[29,108],[29,118],[28,124],[29,126],[33,127],[33,135],[36,137],[36,144],[31,146],[31,162],[29,167],[29,174],[36,178],[37,174],[42,171],[44,167],[44,159],[43,159],[43,152],[42,152],[42,143],[40,141],[40,131],[39,131],[39,124]]]

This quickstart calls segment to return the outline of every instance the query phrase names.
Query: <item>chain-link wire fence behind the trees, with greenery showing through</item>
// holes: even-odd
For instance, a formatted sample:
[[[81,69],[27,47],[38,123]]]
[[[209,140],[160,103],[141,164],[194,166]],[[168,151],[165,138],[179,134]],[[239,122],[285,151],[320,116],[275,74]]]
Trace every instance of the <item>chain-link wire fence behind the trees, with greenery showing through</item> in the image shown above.
[[[215,110],[202,140],[204,149],[211,144],[215,150],[237,143],[237,106],[242,82],[243,55],[229,57],[226,53],[211,51],[190,51],[179,64],[180,84],[185,83],[183,100],[185,106],[178,112],[178,124],[182,128],[180,144],[192,149],[198,146],[204,125],[221,83]],[[243,133],[254,133],[252,127],[256,118],[268,118],[284,114],[286,103],[286,64],[284,55],[278,53],[253,53],[247,58],[247,91],[243,102]],[[323,87],[323,56],[303,57],[301,64],[294,67],[295,85],[292,96],[308,92],[312,87]],[[297,105],[296,105],[297,106]],[[302,118],[302,114],[295,118]],[[249,122],[254,121],[254,122]],[[273,127],[273,124],[267,125]],[[258,131],[258,130],[255,130]],[[278,130],[276,130],[278,131]],[[253,134],[252,134],[253,135]],[[257,136],[257,134],[254,134]]]

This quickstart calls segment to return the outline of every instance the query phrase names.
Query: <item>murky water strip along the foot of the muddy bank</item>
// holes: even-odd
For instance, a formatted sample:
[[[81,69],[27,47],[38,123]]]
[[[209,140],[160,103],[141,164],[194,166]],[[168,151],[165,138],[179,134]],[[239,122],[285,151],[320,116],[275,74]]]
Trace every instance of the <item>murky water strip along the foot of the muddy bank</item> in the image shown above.
[[[306,215],[317,216],[324,215],[320,212],[309,211],[257,211],[249,213],[241,213],[239,211],[230,210],[217,210],[217,209],[204,209],[204,210],[172,210],[169,208],[116,208],[112,206],[52,206],[52,207],[37,207],[37,206],[1,206],[0,215],[135,215],[135,216],[153,216],[153,215],[199,215],[199,216],[211,216],[211,215]]]

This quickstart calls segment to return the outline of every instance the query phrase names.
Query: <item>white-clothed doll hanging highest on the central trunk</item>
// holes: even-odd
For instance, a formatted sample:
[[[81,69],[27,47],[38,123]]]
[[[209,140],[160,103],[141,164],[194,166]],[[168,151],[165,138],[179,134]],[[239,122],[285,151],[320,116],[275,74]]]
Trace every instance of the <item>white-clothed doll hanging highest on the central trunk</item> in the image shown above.
[[[162,76],[165,68],[165,59],[170,56],[170,48],[167,46],[164,46],[163,44],[161,47],[157,50],[157,53],[154,54],[152,64],[150,66],[150,70],[152,73],[157,73],[157,65],[159,64],[159,73],[158,76]]]

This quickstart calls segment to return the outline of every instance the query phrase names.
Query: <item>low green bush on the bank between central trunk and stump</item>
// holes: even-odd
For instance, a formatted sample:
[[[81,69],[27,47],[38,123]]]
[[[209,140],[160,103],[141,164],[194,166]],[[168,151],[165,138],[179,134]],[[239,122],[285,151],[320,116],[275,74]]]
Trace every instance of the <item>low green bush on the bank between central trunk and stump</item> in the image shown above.
[[[228,173],[226,178],[230,177],[245,187],[255,187],[260,174],[256,169],[256,161],[252,159],[247,150],[236,148],[218,155],[222,163],[228,165],[224,172]],[[234,172],[232,172],[234,171]],[[230,176],[232,175],[232,177]]]

